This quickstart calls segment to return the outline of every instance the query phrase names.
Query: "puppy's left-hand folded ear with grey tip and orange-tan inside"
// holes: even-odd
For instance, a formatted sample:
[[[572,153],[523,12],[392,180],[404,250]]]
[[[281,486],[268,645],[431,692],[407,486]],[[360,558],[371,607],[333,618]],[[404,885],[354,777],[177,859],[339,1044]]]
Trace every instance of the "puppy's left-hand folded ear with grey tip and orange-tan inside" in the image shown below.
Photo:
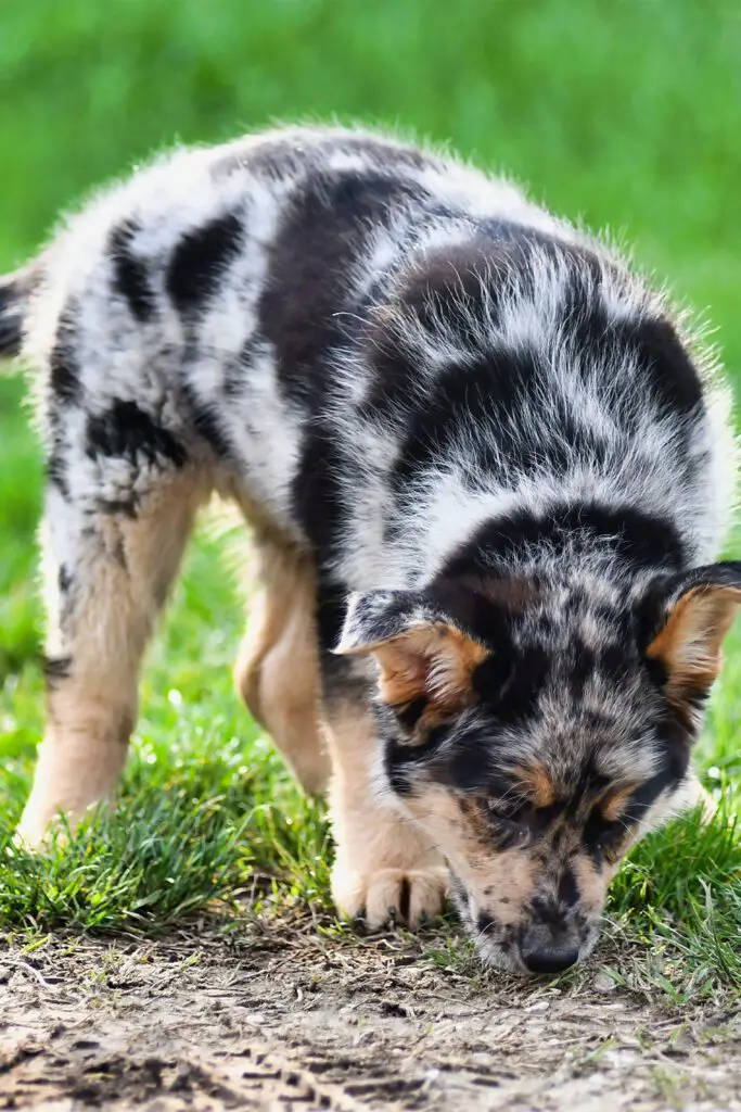
[[[390,706],[424,698],[442,712],[474,702],[473,672],[489,656],[483,645],[411,590],[351,595],[334,652],[372,654],[380,668],[379,693]]]

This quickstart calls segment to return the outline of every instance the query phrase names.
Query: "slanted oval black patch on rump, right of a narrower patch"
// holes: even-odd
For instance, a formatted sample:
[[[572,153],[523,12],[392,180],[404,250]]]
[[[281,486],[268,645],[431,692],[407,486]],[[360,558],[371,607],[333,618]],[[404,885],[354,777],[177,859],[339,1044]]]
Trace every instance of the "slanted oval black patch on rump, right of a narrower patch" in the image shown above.
[[[174,306],[187,314],[218,291],[224,270],[240,255],[244,229],[233,212],[187,232],[176,247],[166,286]]]

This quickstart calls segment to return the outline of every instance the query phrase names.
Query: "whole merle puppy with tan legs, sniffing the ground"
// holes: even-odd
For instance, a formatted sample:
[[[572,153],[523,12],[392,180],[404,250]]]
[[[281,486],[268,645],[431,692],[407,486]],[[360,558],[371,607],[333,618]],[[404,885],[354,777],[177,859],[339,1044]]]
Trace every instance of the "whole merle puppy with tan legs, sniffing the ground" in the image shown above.
[[[741,599],[728,396],[664,299],[505,181],[377,136],[179,151],[2,285],[47,458],[48,728],[20,836],[111,792],[199,506],[261,554],[237,668],[333,892],[552,972],[697,797]]]

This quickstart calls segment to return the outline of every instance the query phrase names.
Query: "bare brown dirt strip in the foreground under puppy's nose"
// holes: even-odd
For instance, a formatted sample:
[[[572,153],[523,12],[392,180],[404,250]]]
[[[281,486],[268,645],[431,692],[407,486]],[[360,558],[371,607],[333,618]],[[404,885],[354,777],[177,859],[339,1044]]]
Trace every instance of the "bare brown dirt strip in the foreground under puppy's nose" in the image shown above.
[[[599,964],[471,980],[394,936],[50,940],[0,954],[0,1109],[741,1110],[741,1011]]]

